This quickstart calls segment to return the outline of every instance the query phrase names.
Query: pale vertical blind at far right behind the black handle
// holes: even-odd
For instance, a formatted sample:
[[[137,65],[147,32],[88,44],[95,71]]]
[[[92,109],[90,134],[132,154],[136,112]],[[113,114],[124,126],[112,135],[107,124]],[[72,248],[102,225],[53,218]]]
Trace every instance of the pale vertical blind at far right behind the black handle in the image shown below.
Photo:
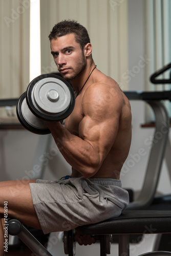
[[[171,62],[171,2],[170,0],[145,0],[145,53],[151,59],[145,67],[145,90],[170,90],[170,84],[153,84],[149,77]],[[168,78],[170,70],[158,78]],[[171,114],[170,102],[165,102]],[[152,120],[147,109],[146,121]]]

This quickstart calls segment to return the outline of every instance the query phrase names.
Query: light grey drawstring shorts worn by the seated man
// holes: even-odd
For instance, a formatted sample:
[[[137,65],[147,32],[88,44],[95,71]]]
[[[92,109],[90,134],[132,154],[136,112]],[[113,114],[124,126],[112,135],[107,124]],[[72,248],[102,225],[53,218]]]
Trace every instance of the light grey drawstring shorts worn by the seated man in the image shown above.
[[[129,203],[129,194],[115,179],[36,180],[30,190],[45,234],[118,217]]]

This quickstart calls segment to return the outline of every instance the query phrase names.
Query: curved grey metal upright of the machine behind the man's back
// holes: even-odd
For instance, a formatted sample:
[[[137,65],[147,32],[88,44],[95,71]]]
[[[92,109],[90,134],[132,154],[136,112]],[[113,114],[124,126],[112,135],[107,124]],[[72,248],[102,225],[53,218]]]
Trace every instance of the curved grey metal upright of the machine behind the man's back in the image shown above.
[[[165,106],[160,101],[148,101],[151,105],[156,117],[156,130],[153,141],[148,140],[151,152],[146,168],[145,179],[136,201],[130,203],[127,209],[136,210],[143,209],[152,203],[161,172],[165,149],[169,132],[169,117]]]

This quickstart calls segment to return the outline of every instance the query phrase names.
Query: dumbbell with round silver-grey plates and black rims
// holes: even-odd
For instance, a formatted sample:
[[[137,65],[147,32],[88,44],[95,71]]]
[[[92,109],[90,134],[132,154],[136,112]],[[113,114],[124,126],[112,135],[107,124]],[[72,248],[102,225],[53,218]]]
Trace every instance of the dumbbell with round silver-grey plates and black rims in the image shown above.
[[[49,134],[45,121],[66,119],[74,109],[71,85],[62,77],[44,74],[34,78],[18,99],[16,114],[20,123],[35,134]]]

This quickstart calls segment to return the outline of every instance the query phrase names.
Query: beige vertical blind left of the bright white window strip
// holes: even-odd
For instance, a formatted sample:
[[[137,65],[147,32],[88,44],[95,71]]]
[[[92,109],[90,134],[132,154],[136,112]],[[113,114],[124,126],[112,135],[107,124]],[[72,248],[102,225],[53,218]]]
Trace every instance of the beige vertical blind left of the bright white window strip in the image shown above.
[[[29,15],[29,0],[0,0],[0,99],[18,98],[29,83]],[[0,109],[7,113],[15,108]]]

